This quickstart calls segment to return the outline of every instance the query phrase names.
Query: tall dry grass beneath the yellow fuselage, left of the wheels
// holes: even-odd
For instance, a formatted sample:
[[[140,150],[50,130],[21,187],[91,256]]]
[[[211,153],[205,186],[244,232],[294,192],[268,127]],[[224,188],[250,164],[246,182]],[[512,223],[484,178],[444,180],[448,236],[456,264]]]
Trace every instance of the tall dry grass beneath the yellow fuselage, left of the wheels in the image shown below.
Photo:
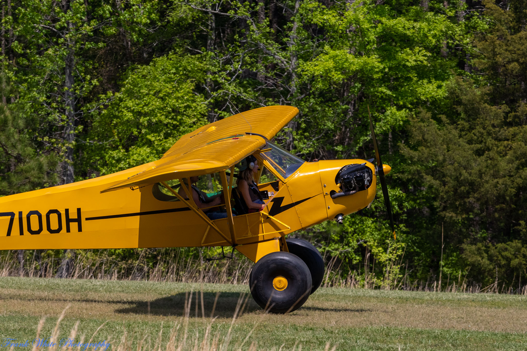
[[[68,269],[68,277],[248,284],[252,268],[252,262],[245,257],[209,263],[201,252],[191,255],[187,248],[158,249],[157,252],[156,249],[133,249],[137,253],[136,259],[119,257],[110,251],[76,250]],[[62,250],[4,250],[1,253],[0,276],[4,277],[55,277],[58,266],[65,259]],[[152,255],[155,257],[152,258]]]

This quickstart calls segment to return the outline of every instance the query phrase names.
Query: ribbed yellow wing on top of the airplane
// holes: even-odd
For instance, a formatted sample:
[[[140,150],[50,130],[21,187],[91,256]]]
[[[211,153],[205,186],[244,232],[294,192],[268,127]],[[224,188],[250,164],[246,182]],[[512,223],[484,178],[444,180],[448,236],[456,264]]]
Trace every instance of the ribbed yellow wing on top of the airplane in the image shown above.
[[[101,193],[225,171],[264,146],[265,138],[274,137],[297,114],[291,106],[261,107],[198,128],[183,135],[149,168]]]

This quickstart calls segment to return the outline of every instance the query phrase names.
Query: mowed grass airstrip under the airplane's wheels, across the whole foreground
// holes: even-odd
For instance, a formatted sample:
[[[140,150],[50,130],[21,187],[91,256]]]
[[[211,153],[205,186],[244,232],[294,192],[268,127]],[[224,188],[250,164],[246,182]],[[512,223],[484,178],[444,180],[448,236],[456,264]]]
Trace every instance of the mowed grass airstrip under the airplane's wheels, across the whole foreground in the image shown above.
[[[49,336],[57,317],[71,304],[61,323],[64,337],[79,320],[79,335],[87,338],[106,322],[95,342],[118,344],[125,330],[135,342],[145,335],[155,340],[161,331],[166,342],[174,323],[182,323],[190,292],[189,334],[203,335],[219,292],[212,329],[225,335],[240,294],[249,294],[249,288],[3,277],[0,340],[32,340],[42,316],[47,319],[41,336]],[[338,350],[526,350],[527,296],[320,288],[297,311],[272,315],[249,295],[231,333],[232,346],[251,333],[245,348],[255,341],[258,349],[284,345],[282,350],[288,350],[298,342],[304,350],[323,350],[329,342]]]

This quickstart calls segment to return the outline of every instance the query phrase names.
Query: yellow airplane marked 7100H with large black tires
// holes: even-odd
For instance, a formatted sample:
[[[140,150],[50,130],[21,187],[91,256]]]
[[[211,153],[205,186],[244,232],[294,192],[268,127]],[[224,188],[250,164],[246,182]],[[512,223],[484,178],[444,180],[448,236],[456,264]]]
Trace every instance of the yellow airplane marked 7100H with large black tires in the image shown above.
[[[255,263],[256,302],[291,312],[320,285],[324,261],[306,240],[286,235],[325,220],[342,223],[373,202],[377,177],[392,220],[384,182],[391,168],[380,162],[371,118],[377,166],[373,158],[305,162],[272,143],[297,114],[291,106],[252,109],[182,136],[158,161],[2,197],[0,249],[230,246]],[[258,165],[257,182],[268,178],[264,170],[275,179],[254,183],[263,202],[254,212],[233,182],[244,160]],[[221,203],[207,206],[204,193],[196,196],[201,190],[192,183],[201,175],[219,179]],[[223,218],[211,219],[211,209]]]

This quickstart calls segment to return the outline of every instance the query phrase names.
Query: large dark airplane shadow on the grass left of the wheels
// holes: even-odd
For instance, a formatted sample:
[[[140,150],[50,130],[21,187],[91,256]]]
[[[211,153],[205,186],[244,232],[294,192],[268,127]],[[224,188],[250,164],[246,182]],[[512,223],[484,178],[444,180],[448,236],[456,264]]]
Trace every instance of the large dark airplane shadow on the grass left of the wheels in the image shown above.
[[[115,313],[129,313],[129,314],[151,314],[157,316],[183,316],[185,306],[185,299],[188,299],[190,292],[178,293],[172,296],[161,297],[150,301],[150,310],[148,301],[133,301],[128,302],[130,307],[115,309]],[[226,293],[222,292],[216,302],[214,309],[214,317],[231,318],[236,310],[240,293]],[[242,304],[247,298],[247,304],[244,313],[253,312],[260,309],[260,307],[252,300],[250,294],[243,298]],[[210,317],[212,307],[216,299],[216,293],[203,293],[203,307],[205,317]],[[202,317],[201,313],[201,294],[198,292],[198,317]],[[190,317],[196,317],[196,292],[192,293],[192,300],[190,306]]]

